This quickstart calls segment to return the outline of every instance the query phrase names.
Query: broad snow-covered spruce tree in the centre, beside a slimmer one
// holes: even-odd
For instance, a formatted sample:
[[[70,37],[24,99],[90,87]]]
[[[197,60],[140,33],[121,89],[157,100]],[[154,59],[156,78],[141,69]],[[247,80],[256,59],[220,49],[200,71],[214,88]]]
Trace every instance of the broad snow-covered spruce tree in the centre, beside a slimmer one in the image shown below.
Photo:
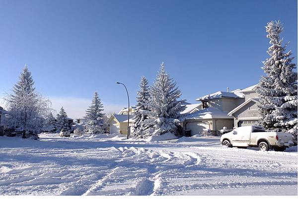
[[[150,98],[147,103],[149,111],[144,111],[148,118],[144,121],[145,130],[143,137],[173,133],[177,135],[180,121],[177,119],[179,112],[185,110],[178,100],[181,91],[176,87],[176,82],[170,78],[164,69],[164,63],[155,79],[154,85],[149,89]]]

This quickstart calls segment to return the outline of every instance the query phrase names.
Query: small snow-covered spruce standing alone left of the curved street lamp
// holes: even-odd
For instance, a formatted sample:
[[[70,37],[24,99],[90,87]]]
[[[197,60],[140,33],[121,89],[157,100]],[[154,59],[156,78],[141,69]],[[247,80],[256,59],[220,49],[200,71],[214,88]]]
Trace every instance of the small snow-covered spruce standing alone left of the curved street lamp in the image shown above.
[[[87,123],[85,124],[85,133],[95,134],[95,133],[106,133],[107,124],[104,119],[103,105],[98,97],[98,93],[94,93],[91,106],[86,111],[85,119]]]

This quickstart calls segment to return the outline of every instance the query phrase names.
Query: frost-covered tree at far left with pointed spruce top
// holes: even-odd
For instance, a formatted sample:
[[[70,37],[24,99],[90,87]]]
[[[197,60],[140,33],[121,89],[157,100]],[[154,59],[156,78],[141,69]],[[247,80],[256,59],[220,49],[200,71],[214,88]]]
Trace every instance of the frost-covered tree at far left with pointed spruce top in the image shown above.
[[[23,68],[12,92],[6,98],[7,126],[16,132],[22,132],[23,138],[38,139],[37,133],[43,127],[45,117],[50,111],[50,101],[35,91],[27,66]]]

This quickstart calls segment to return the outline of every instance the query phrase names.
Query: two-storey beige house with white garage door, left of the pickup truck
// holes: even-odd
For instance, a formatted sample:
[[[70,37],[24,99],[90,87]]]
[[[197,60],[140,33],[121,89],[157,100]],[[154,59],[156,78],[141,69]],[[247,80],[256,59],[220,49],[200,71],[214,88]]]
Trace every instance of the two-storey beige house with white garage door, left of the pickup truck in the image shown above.
[[[244,102],[244,94],[239,90],[219,91],[196,99],[201,102],[202,108],[180,118],[183,130],[190,130],[191,135],[194,135],[204,130],[219,134],[223,127],[232,129],[233,117],[227,114]]]

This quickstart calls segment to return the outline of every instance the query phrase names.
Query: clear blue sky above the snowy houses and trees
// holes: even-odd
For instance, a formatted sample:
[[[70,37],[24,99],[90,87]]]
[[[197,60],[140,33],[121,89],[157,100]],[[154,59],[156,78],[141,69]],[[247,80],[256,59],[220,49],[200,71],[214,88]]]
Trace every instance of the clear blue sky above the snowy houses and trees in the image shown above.
[[[297,0],[0,0],[0,96],[27,64],[45,96],[91,100],[98,91],[121,107],[115,82],[135,104],[141,76],[152,84],[164,61],[194,103],[258,82],[271,20],[283,22],[296,57]]]

